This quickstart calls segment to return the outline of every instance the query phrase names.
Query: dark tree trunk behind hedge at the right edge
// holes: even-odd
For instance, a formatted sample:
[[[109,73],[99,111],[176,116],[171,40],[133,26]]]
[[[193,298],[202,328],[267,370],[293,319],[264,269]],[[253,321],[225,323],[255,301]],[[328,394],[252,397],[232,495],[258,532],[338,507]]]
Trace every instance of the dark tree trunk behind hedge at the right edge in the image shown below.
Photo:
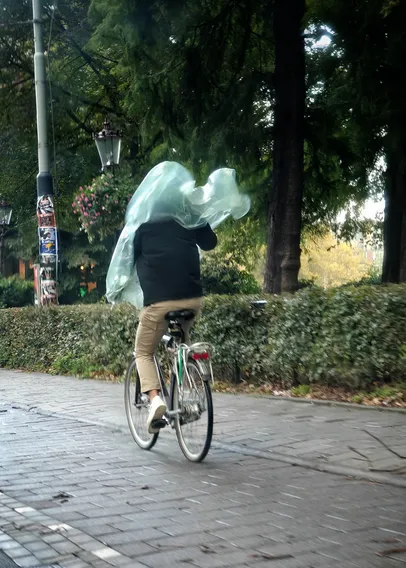
[[[406,158],[387,154],[383,282],[406,282]]]

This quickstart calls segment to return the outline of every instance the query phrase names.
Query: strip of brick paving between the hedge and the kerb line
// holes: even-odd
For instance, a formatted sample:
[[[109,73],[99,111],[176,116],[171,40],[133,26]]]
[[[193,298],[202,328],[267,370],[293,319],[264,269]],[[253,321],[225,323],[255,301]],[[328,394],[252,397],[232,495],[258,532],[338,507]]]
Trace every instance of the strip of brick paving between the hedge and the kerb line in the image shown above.
[[[0,369],[0,397],[23,408],[127,430],[122,385]],[[215,415],[214,440],[228,444],[225,449],[255,450],[319,469],[358,470],[406,486],[406,413],[217,394]],[[173,441],[172,433],[163,432],[162,438]]]

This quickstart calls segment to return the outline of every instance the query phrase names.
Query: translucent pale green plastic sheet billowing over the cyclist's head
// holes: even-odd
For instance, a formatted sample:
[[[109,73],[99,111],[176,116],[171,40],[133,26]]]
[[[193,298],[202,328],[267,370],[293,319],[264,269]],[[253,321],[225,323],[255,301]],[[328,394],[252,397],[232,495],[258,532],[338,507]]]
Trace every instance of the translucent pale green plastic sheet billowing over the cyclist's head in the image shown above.
[[[235,170],[216,170],[206,185],[196,187],[192,175],[177,162],[158,164],[128,204],[125,226],[107,273],[107,300],[143,307],[143,293],[134,266],[134,236],[143,223],[173,219],[186,229],[207,223],[215,229],[230,215],[240,219],[249,209],[250,199],[238,191]]]

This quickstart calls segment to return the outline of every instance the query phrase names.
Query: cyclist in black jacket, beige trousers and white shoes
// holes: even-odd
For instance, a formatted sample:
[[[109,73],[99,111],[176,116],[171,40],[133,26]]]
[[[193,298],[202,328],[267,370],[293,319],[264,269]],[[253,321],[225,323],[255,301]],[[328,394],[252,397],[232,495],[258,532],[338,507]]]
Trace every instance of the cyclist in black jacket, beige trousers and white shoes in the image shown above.
[[[134,238],[134,260],[144,294],[135,339],[136,364],[141,390],[147,393],[151,407],[147,420],[149,433],[167,408],[160,396],[160,383],[154,353],[167,330],[165,315],[171,311],[201,309],[203,289],[200,281],[200,255],[217,245],[210,225],[185,229],[174,220],[148,222],[139,227]],[[192,321],[185,322],[186,343]]]

